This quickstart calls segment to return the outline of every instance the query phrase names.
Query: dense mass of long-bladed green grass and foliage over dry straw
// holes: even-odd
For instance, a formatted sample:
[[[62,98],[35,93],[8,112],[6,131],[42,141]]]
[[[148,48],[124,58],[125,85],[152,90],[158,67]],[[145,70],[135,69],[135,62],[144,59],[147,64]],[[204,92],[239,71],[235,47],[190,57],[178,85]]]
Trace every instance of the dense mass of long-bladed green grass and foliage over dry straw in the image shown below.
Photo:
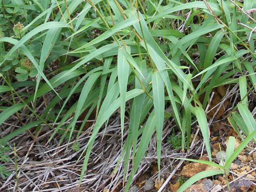
[[[36,127],[36,138],[46,124],[53,130],[50,142],[72,116],[65,127],[70,141],[79,116],[87,108],[96,108],[92,134],[80,155],[85,157],[80,184],[97,134],[118,109],[123,147],[113,174],[123,166],[125,191],[155,132],[160,170],[167,118],[175,119],[182,150],[189,149],[191,124],[196,122],[209,156],[209,162],[204,163],[217,166],[211,162],[210,125],[205,115],[215,87],[238,84],[241,103],[235,103],[237,108],[226,115],[234,129],[243,131],[247,138],[234,153],[227,149],[225,166],[217,166],[221,170],[204,172],[200,178],[227,173],[238,151],[252,139],[255,142],[254,114],[249,107],[254,102],[248,97],[256,84],[256,36],[252,31],[256,23],[254,12],[250,12],[256,2],[3,0],[1,4],[0,124],[11,117],[21,122],[1,141],[31,127]],[[51,73],[46,72],[49,69]],[[33,94],[27,89],[33,89]],[[55,97],[38,113],[36,108],[47,94]],[[77,94],[78,100],[61,115]],[[53,110],[58,110],[55,118],[47,117]],[[127,114],[129,134],[124,136]],[[23,123],[23,116],[29,121]],[[83,125],[78,127],[77,138],[82,129]],[[198,179],[191,178],[179,191]]]

